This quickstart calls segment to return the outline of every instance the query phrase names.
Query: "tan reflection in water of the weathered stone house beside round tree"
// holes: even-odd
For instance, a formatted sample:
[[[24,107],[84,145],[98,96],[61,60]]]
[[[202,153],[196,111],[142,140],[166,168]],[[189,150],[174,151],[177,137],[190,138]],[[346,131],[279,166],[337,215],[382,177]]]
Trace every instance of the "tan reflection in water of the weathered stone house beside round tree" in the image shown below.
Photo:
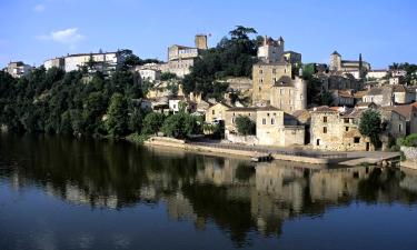
[[[310,174],[311,200],[337,202],[342,197],[356,197],[360,180],[368,178],[374,168],[340,168],[312,171]]]

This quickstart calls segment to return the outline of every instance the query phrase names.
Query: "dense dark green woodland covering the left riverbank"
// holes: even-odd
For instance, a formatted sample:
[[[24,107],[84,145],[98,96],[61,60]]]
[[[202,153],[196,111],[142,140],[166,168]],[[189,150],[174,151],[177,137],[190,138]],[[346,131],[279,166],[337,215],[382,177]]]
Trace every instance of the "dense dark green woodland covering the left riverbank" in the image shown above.
[[[139,112],[131,100],[141,97],[139,77],[128,70],[86,77],[40,67],[20,79],[0,72],[0,123],[17,132],[121,136],[137,118],[128,113]]]

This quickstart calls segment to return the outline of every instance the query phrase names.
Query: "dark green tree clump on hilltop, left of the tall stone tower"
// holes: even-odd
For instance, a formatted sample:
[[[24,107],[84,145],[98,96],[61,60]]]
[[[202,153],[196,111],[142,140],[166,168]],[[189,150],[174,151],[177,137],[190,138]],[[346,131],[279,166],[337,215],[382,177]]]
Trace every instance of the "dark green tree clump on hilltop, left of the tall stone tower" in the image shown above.
[[[255,33],[252,28],[238,26],[217,47],[206,50],[195,62],[191,73],[185,77],[183,90],[221,99],[228,86],[218,82],[218,79],[250,77],[259,43],[259,39],[249,38]]]

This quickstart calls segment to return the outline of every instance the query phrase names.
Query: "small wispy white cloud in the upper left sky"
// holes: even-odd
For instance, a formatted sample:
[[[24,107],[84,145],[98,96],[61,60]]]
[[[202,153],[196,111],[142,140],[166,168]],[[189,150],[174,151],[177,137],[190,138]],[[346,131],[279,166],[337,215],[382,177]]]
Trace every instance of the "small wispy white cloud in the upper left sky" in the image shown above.
[[[66,30],[52,31],[47,36],[38,36],[38,40],[54,41],[61,44],[70,46],[70,49],[76,48],[76,46],[82,41],[86,37],[78,32],[78,28],[69,28]]]

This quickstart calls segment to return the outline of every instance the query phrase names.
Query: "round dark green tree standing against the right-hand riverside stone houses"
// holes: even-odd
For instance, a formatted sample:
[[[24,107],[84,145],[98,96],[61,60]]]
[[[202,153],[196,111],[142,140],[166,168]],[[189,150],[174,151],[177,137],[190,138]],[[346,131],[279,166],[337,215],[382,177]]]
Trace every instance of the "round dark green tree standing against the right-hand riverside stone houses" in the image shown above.
[[[378,111],[368,109],[363,112],[359,121],[359,132],[369,137],[370,142],[376,147],[380,147],[380,132],[381,129],[381,118]]]

